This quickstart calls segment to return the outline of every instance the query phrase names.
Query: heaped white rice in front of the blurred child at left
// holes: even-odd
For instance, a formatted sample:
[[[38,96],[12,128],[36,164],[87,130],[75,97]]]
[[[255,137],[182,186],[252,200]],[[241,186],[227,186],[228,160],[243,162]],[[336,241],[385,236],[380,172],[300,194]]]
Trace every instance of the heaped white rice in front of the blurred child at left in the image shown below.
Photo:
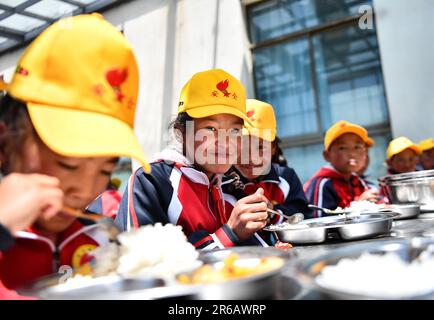
[[[110,244],[92,252],[94,277],[117,274],[171,281],[177,274],[202,264],[198,260],[199,252],[187,241],[180,226],[161,223],[143,226],[121,233],[118,240],[120,246]],[[77,278],[77,281],[82,280]]]

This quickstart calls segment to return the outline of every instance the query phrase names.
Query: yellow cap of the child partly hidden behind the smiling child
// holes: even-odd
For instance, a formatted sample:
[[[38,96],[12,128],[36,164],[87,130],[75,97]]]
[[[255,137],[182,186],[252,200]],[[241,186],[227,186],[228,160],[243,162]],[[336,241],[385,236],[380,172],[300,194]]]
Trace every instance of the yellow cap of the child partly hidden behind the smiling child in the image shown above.
[[[273,142],[277,132],[273,106],[256,99],[247,99],[246,109],[252,125],[246,124],[243,134],[255,135]]]

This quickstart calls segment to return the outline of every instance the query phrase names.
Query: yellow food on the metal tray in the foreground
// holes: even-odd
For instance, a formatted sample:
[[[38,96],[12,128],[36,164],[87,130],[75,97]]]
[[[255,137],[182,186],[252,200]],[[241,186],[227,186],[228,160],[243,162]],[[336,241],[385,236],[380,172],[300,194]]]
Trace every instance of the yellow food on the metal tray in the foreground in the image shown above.
[[[222,267],[215,268],[205,264],[192,274],[178,276],[178,281],[182,284],[220,283],[266,273],[282,266],[283,260],[278,257],[243,260],[236,253],[232,253],[224,260]]]

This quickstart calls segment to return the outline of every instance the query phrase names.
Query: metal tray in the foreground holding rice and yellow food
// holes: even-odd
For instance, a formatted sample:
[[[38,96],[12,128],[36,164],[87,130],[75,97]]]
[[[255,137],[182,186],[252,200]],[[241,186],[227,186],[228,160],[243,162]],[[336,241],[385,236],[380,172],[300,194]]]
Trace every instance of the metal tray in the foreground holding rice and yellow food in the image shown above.
[[[281,271],[286,260],[292,257],[290,251],[275,248],[236,247],[203,252],[199,259],[210,265],[218,265],[231,253],[237,253],[240,260],[280,257],[284,265],[269,272],[206,285],[168,284],[162,279],[113,275],[94,278],[71,288],[59,285],[60,276],[53,275],[40,279],[20,293],[46,300],[264,299],[273,296],[280,288]]]

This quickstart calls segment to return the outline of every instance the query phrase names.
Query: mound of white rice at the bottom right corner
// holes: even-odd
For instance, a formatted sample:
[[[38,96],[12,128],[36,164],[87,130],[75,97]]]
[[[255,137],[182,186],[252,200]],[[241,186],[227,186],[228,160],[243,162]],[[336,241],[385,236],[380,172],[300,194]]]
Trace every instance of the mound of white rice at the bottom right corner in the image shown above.
[[[434,292],[434,255],[423,252],[411,263],[396,253],[364,253],[357,259],[341,259],[317,276],[325,288],[373,298],[398,299]]]

